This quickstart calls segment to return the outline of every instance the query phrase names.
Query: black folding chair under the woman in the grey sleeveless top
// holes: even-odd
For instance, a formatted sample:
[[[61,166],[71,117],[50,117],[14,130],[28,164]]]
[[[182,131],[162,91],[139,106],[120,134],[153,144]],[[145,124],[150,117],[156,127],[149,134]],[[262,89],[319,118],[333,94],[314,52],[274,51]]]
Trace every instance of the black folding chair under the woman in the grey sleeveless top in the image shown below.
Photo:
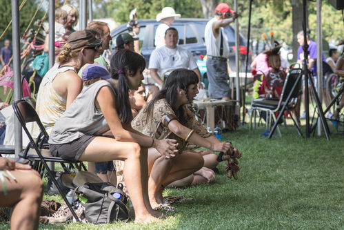
[[[23,130],[25,131],[26,135],[28,136],[30,143],[28,146],[26,146],[26,149],[19,153],[19,157],[28,159],[31,164],[33,165],[33,168],[39,171],[41,175],[43,175],[43,171],[46,170],[48,173],[48,176],[52,180],[52,182],[57,186],[57,189],[59,190],[59,193],[61,194],[63,200],[65,201],[65,204],[67,204],[68,208],[72,212],[72,215],[74,218],[79,221],[79,218],[77,214],[74,212],[74,209],[70,205],[70,202],[68,202],[67,198],[65,197],[65,194],[63,193],[63,190],[61,189],[61,186],[55,179],[52,171],[49,169],[49,166],[47,162],[57,162],[60,163],[61,166],[65,171],[69,171],[68,167],[65,166],[65,164],[70,164],[72,168],[77,168],[81,170],[81,168],[85,169],[85,166],[81,162],[69,162],[66,160],[63,160],[61,157],[53,157],[50,155],[49,149],[47,149],[46,142],[49,139],[48,133],[45,131],[45,128],[43,127],[43,124],[41,123],[41,120],[39,119],[39,116],[37,115],[34,108],[25,100],[21,99],[18,101],[13,102],[12,104],[13,110],[15,115],[18,117],[19,122],[21,126],[23,127]],[[37,140],[34,141],[32,138],[32,135],[28,131],[28,128],[26,127],[26,123],[28,122],[36,122],[36,124],[41,129],[41,133],[39,134],[39,137],[37,137]],[[80,164],[80,165],[78,165]]]

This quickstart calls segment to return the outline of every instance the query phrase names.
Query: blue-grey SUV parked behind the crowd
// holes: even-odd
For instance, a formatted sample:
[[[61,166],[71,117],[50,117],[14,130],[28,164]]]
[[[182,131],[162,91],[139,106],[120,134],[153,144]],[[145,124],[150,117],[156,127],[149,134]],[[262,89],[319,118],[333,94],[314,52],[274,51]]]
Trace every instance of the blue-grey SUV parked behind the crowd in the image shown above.
[[[196,59],[199,57],[204,57],[206,55],[206,48],[204,43],[204,30],[205,25],[207,24],[207,19],[176,19],[172,24],[172,27],[178,30],[179,34],[179,43],[178,45],[190,50]],[[145,57],[145,61],[147,64],[150,60],[150,55],[152,51],[155,49],[154,46],[154,37],[156,28],[159,26],[161,22],[156,21],[155,19],[143,19],[139,20],[140,24],[140,33],[138,35],[140,41],[140,48],[143,57]],[[112,50],[116,46],[116,38],[123,32],[128,32],[127,24],[123,24],[112,30],[111,37],[112,37]],[[230,68],[236,71],[235,66],[235,36],[234,36],[234,28],[232,26],[225,27],[225,33],[228,38],[228,44],[230,46]],[[243,35],[239,36],[239,50],[240,50],[240,59],[241,59],[241,71],[245,71],[245,55],[246,55],[246,39]],[[250,58],[249,61],[251,62],[252,59]],[[202,62],[202,61],[198,61]],[[249,63],[250,66],[250,63]],[[203,75],[206,73],[203,66],[202,78]]]

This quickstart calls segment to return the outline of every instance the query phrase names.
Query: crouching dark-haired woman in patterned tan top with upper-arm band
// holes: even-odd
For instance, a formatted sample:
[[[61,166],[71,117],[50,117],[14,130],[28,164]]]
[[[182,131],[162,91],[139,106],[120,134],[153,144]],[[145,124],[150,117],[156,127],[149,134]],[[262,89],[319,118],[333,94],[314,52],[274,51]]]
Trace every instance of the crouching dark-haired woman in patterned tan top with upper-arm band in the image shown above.
[[[178,142],[179,154],[166,159],[154,148],[148,149],[148,168],[150,179],[148,195],[152,207],[159,208],[163,203],[163,188],[168,184],[196,174],[189,181],[179,186],[192,183],[207,182],[206,173],[210,172],[204,166],[205,160],[201,154],[187,149],[188,142],[209,148],[212,151],[234,151],[236,157],[241,153],[229,142],[220,142],[214,135],[194,117],[187,108],[199,93],[199,79],[192,70],[178,69],[172,71],[159,94],[143,108],[132,121],[132,126],[145,135],[159,140],[172,138]],[[210,155],[212,157],[212,155]],[[207,156],[205,156],[207,157]],[[212,168],[212,166],[210,166]]]

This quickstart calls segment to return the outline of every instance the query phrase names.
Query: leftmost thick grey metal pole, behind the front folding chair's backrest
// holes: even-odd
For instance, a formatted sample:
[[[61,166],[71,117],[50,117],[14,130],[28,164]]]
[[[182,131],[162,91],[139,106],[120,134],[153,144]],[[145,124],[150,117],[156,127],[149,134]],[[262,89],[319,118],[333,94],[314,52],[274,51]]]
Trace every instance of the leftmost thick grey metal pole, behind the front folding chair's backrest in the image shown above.
[[[13,48],[13,78],[14,78],[14,100],[21,99],[21,73],[20,73],[20,44],[19,44],[19,0],[12,0],[12,48]],[[19,157],[23,151],[23,139],[21,124],[14,116],[14,153]]]

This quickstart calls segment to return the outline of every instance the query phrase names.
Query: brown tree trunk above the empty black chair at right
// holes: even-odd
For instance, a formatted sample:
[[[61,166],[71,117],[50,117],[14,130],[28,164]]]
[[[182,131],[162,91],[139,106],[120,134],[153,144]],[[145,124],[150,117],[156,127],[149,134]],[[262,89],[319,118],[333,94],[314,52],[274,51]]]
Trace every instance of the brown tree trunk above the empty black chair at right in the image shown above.
[[[299,48],[299,43],[297,42],[297,33],[302,30],[303,23],[303,0],[292,0],[292,53],[293,53],[293,62],[297,61],[297,49]],[[306,26],[308,28],[308,10],[306,8]]]

